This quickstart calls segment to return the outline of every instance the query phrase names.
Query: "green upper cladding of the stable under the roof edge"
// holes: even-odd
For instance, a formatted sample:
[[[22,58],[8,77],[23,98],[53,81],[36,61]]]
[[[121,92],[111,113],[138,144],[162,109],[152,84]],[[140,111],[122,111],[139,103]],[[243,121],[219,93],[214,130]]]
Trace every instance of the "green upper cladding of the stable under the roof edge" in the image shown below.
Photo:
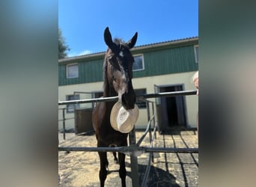
[[[134,71],[133,78],[198,70],[194,49],[194,46],[197,45],[198,37],[191,37],[182,40],[136,46],[131,49],[131,52],[132,55],[139,54],[144,56],[144,70]],[[104,55],[105,52],[98,52],[59,60],[59,85],[103,81]],[[72,63],[78,63],[79,77],[67,79],[66,65]]]

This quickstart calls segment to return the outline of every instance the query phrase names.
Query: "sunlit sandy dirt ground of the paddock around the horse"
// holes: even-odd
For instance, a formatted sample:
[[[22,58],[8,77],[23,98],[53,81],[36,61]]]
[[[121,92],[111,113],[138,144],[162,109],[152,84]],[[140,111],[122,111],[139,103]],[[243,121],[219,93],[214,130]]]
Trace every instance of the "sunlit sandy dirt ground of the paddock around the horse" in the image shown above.
[[[143,132],[136,132],[136,139]],[[143,147],[149,147],[149,138],[146,137],[141,143]],[[97,147],[94,134],[75,135],[66,133],[59,134],[59,147]],[[196,131],[180,131],[172,135],[159,135],[153,147],[180,147],[197,148],[198,135]],[[154,160],[150,168],[147,186],[198,186],[198,153],[154,153]],[[144,172],[147,168],[149,153],[138,156],[138,175],[141,185]],[[121,186],[118,169],[112,153],[108,153],[109,174],[106,186]],[[132,186],[130,157],[126,156],[127,186]],[[98,177],[100,159],[97,152],[58,152],[58,174],[60,175],[59,186],[100,186]]]

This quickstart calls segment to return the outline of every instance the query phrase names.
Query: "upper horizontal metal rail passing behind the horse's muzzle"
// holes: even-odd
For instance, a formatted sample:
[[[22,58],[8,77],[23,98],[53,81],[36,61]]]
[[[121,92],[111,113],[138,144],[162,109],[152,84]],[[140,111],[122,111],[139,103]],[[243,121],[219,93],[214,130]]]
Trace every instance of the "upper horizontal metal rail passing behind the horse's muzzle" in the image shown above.
[[[195,95],[196,91],[172,91],[172,92],[164,92],[164,93],[148,93],[138,95],[137,99],[148,99],[153,97],[161,97],[161,96],[185,96],[185,95]],[[79,99],[79,100],[70,100],[70,101],[59,101],[58,105],[71,105],[71,104],[79,104],[79,103],[88,103],[88,102],[104,102],[104,101],[117,101],[118,96],[109,96],[109,97],[100,97],[95,99]]]

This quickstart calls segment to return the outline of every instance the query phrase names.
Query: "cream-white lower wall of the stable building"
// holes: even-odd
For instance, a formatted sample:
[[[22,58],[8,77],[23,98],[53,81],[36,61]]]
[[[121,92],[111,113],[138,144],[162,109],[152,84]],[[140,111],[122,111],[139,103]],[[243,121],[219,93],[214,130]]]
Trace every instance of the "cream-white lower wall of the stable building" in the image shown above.
[[[195,90],[195,86],[192,84],[192,76],[195,72],[189,73],[175,73],[163,76],[151,76],[144,78],[132,79],[132,85],[134,89],[146,88],[147,93],[154,93],[154,85],[184,85],[185,91]],[[67,95],[72,95],[74,91],[82,92],[95,92],[103,91],[103,82],[95,82],[88,84],[79,84],[79,85],[66,85],[58,87],[58,99],[59,101],[66,100]],[[90,94],[81,94],[80,99],[90,99]],[[150,101],[155,101],[155,98],[150,98]],[[186,96],[186,121],[187,125],[190,127],[197,126],[197,114],[198,114],[198,96]],[[91,104],[86,104],[88,107],[91,107]],[[83,107],[86,105],[82,105]],[[59,108],[66,107],[65,105],[60,105]],[[151,110],[151,109],[150,109]],[[156,111],[156,107],[155,107]],[[152,112],[152,110],[151,110]],[[66,118],[74,117],[74,114],[66,114]],[[59,120],[62,119],[62,111],[59,110]],[[137,129],[144,129],[147,126],[147,109],[139,110],[138,121],[135,124]],[[74,119],[66,120],[66,129],[73,129]],[[58,129],[62,129],[62,121],[58,123]]]

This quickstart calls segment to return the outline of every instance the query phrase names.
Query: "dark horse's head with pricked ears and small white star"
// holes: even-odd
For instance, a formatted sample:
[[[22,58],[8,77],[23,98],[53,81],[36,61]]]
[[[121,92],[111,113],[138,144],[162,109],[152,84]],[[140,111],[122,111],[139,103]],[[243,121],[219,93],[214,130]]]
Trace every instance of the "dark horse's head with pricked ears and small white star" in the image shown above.
[[[129,49],[135,46],[138,33],[127,43],[122,40],[112,40],[107,27],[104,31],[104,40],[109,49],[106,52],[106,79],[109,86],[115,89],[118,99],[124,108],[132,109],[135,104],[135,92],[132,88],[132,64],[134,58]]]

